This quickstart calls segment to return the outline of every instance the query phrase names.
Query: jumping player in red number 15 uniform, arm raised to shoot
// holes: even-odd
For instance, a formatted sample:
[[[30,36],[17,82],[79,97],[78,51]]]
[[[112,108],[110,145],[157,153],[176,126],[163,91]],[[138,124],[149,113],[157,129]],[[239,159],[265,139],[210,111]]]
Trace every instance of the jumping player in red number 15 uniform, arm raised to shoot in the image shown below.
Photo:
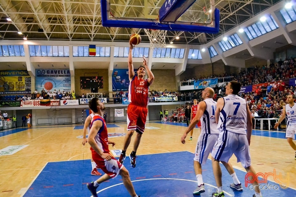
[[[123,141],[123,148],[118,161],[123,163],[125,159],[125,152],[130,145],[130,140],[134,132],[136,131],[136,137],[134,140],[133,151],[130,154],[130,165],[136,167],[136,152],[139,147],[142,134],[145,129],[146,117],[147,117],[147,105],[148,105],[148,90],[149,86],[154,81],[154,75],[147,65],[146,58],[143,57],[143,66],[140,66],[137,70],[138,76],[134,74],[133,45],[130,43],[130,51],[128,57],[129,64],[129,106],[127,108],[127,134]],[[145,72],[148,74],[148,79],[144,80]]]

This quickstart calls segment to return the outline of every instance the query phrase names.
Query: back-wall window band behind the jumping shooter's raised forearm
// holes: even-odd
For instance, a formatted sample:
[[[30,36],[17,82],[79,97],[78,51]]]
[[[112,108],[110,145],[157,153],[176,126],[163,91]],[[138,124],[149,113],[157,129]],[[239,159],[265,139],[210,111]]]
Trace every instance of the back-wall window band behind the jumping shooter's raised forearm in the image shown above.
[[[114,47],[114,57],[128,57],[130,47]],[[148,57],[148,47],[135,47],[132,50],[134,58],[142,58],[143,56]],[[110,50],[109,50],[110,53]]]

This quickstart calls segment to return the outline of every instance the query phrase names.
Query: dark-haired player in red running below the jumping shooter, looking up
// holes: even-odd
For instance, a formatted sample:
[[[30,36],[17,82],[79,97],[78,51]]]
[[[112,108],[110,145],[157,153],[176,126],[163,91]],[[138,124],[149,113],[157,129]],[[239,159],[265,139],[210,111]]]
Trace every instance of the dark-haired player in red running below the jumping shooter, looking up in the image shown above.
[[[102,169],[106,174],[101,176],[96,181],[87,183],[87,188],[94,197],[97,197],[97,187],[100,183],[107,181],[111,178],[121,175],[123,184],[132,197],[140,197],[134,190],[133,183],[130,180],[129,171],[119,163],[109,153],[108,143],[114,145],[108,141],[108,131],[105,120],[103,118],[105,106],[98,98],[92,98],[88,102],[89,108],[95,113],[88,134],[88,143],[90,144],[92,151],[92,159],[96,162],[97,166]]]

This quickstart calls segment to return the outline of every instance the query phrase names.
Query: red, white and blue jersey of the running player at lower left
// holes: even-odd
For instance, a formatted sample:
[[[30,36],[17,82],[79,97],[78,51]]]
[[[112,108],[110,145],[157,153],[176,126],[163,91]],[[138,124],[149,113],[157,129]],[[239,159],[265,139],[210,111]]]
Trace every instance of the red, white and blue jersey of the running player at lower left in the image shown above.
[[[101,151],[103,151],[104,153],[108,153],[109,152],[108,131],[107,131],[107,126],[106,126],[105,120],[103,117],[95,114],[92,118],[91,123],[90,123],[90,128],[92,128],[92,124],[95,121],[102,121],[102,123],[103,123],[102,127],[97,132],[97,135],[95,137],[96,143],[99,146],[99,148],[101,149]],[[90,150],[93,150],[92,147],[90,148]]]

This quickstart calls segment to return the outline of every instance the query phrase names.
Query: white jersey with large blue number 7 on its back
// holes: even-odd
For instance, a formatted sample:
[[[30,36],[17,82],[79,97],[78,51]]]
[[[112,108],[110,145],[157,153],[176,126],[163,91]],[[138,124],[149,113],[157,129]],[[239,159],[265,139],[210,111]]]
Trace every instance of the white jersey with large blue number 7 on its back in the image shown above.
[[[235,94],[229,94],[223,99],[224,107],[220,112],[218,129],[246,134],[247,103],[245,99]]]

